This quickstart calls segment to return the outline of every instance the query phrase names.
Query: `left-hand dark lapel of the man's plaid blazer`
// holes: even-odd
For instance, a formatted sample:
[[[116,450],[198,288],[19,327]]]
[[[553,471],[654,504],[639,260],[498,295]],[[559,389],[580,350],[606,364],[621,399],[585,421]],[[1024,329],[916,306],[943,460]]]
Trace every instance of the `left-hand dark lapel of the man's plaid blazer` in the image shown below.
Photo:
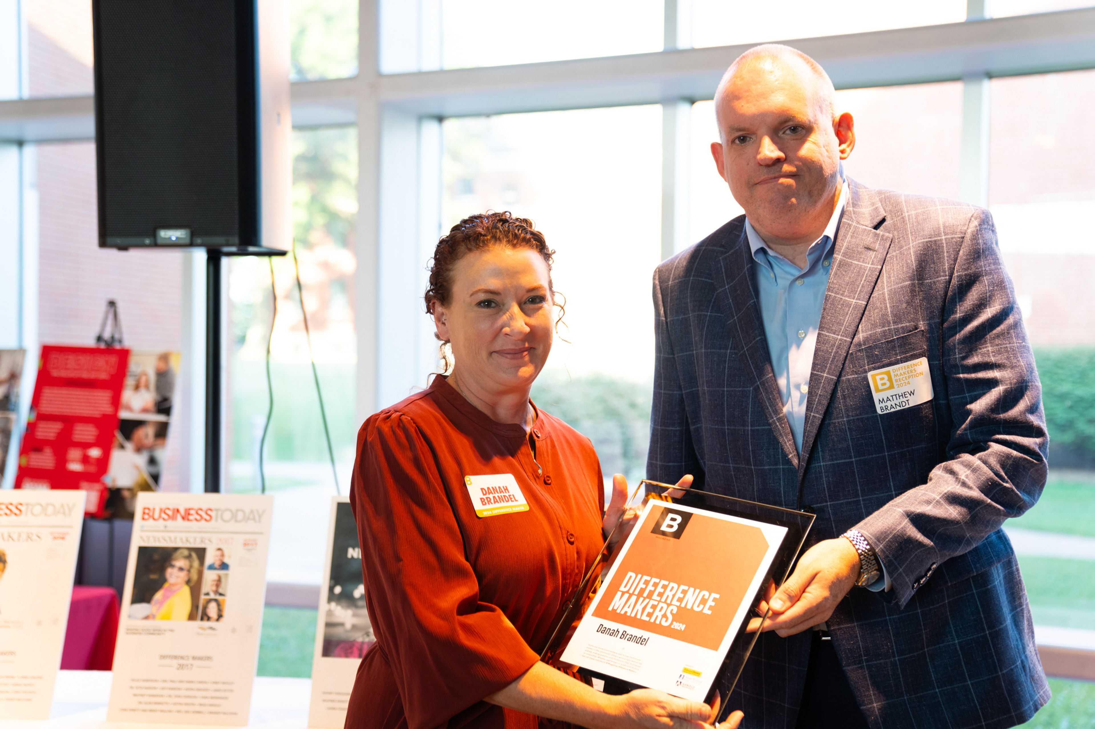
[[[791,426],[783,414],[783,401],[772,371],[772,359],[764,337],[760,303],[753,290],[752,256],[746,240],[745,225],[739,235],[730,239],[727,251],[721,256],[723,286],[715,291],[727,319],[730,342],[735,343],[742,371],[750,378],[753,392],[772,427],[775,439],[792,465],[798,468],[798,451]]]

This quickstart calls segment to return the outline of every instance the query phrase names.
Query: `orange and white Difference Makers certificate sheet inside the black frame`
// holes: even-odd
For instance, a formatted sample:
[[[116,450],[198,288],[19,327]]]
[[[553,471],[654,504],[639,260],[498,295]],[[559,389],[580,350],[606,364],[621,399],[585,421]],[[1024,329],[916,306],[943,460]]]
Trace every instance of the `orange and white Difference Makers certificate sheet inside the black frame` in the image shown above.
[[[704,701],[786,533],[648,501],[562,660]]]

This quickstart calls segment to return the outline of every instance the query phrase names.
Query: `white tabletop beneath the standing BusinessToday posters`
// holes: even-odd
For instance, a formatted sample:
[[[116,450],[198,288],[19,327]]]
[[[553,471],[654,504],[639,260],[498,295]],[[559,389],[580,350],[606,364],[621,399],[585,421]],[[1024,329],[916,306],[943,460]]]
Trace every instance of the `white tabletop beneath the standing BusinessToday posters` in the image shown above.
[[[2,729],[139,729],[141,727],[191,727],[196,725],[123,724],[106,720],[106,702],[111,695],[110,671],[60,671],[54,690],[49,718],[43,721],[0,719]],[[310,679],[275,679],[258,676],[251,694],[249,727],[263,729],[306,729]]]

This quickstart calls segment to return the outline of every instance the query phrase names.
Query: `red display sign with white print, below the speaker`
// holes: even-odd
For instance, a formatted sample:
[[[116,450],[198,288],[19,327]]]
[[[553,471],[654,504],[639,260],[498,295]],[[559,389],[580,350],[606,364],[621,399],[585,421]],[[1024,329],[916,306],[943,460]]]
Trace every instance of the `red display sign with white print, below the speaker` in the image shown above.
[[[80,488],[88,513],[106,500],[128,349],[42,347],[15,488]]]

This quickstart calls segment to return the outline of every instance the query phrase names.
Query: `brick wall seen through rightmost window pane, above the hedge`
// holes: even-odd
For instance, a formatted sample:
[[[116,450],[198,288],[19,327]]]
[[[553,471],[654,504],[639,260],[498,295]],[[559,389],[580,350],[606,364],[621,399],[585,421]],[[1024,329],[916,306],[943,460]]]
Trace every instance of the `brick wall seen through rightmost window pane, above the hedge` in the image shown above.
[[[991,82],[989,196],[1037,346],[1095,345],[1095,70]],[[1007,218],[1028,211],[1010,238]],[[1022,221],[1021,221],[1022,222]]]

